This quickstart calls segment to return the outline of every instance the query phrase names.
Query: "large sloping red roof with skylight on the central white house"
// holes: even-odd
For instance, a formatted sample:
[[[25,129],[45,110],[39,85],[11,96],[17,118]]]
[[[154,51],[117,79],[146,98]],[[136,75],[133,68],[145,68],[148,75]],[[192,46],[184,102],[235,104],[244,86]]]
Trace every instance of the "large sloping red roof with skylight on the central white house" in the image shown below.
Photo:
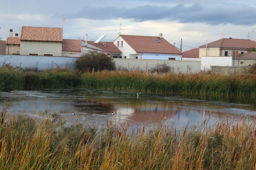
[[[182,54],[164,38],[120,35],[137,53]],[[161,42],[158,43],[157,41]]]

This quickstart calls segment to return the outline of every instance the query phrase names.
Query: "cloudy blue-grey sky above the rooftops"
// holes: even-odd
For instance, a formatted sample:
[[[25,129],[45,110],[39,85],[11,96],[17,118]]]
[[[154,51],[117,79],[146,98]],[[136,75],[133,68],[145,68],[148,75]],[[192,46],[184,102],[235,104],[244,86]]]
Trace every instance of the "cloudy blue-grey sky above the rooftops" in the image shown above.
[[[61,27],[63,38],[88,34],[95,41],[106,33],[113,41],[122,34],[158,36],[183,50],[222,38],[252,39],[256,30],[255,0],[0,0],[0,37],[19,33],[21,26]],[[256,40],[256,33],[254,33]]]

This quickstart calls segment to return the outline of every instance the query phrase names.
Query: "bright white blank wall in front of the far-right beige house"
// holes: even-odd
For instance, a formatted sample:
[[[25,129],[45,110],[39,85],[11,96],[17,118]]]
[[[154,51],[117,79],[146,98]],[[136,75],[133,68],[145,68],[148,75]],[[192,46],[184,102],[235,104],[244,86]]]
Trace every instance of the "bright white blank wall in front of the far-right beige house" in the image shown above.
[[[233,66],[233,58],[220,56],[202,56],[201,70],[210,70],[211,66]]]

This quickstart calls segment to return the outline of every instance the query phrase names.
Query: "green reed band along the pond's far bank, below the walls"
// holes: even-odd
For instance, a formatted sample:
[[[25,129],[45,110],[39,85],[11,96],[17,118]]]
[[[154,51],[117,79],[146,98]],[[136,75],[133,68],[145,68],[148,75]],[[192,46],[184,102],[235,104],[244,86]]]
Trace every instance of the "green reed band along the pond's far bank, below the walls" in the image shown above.
[[[86,87],[136,92],[182,93],[192,95],[256,96],[256,75],[147,74],[139,71],[80,73],[54,69],[23,72],[0,69],[0,90]]]

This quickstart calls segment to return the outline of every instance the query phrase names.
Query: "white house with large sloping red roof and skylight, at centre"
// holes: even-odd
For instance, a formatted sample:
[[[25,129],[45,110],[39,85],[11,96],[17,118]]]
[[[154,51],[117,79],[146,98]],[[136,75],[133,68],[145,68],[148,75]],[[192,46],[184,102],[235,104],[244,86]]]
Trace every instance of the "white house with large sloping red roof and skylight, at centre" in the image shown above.
[[[162,34],[159,37],[119,35],[114,44],[122,52],[114,58],[181,60],[182,57]]]

